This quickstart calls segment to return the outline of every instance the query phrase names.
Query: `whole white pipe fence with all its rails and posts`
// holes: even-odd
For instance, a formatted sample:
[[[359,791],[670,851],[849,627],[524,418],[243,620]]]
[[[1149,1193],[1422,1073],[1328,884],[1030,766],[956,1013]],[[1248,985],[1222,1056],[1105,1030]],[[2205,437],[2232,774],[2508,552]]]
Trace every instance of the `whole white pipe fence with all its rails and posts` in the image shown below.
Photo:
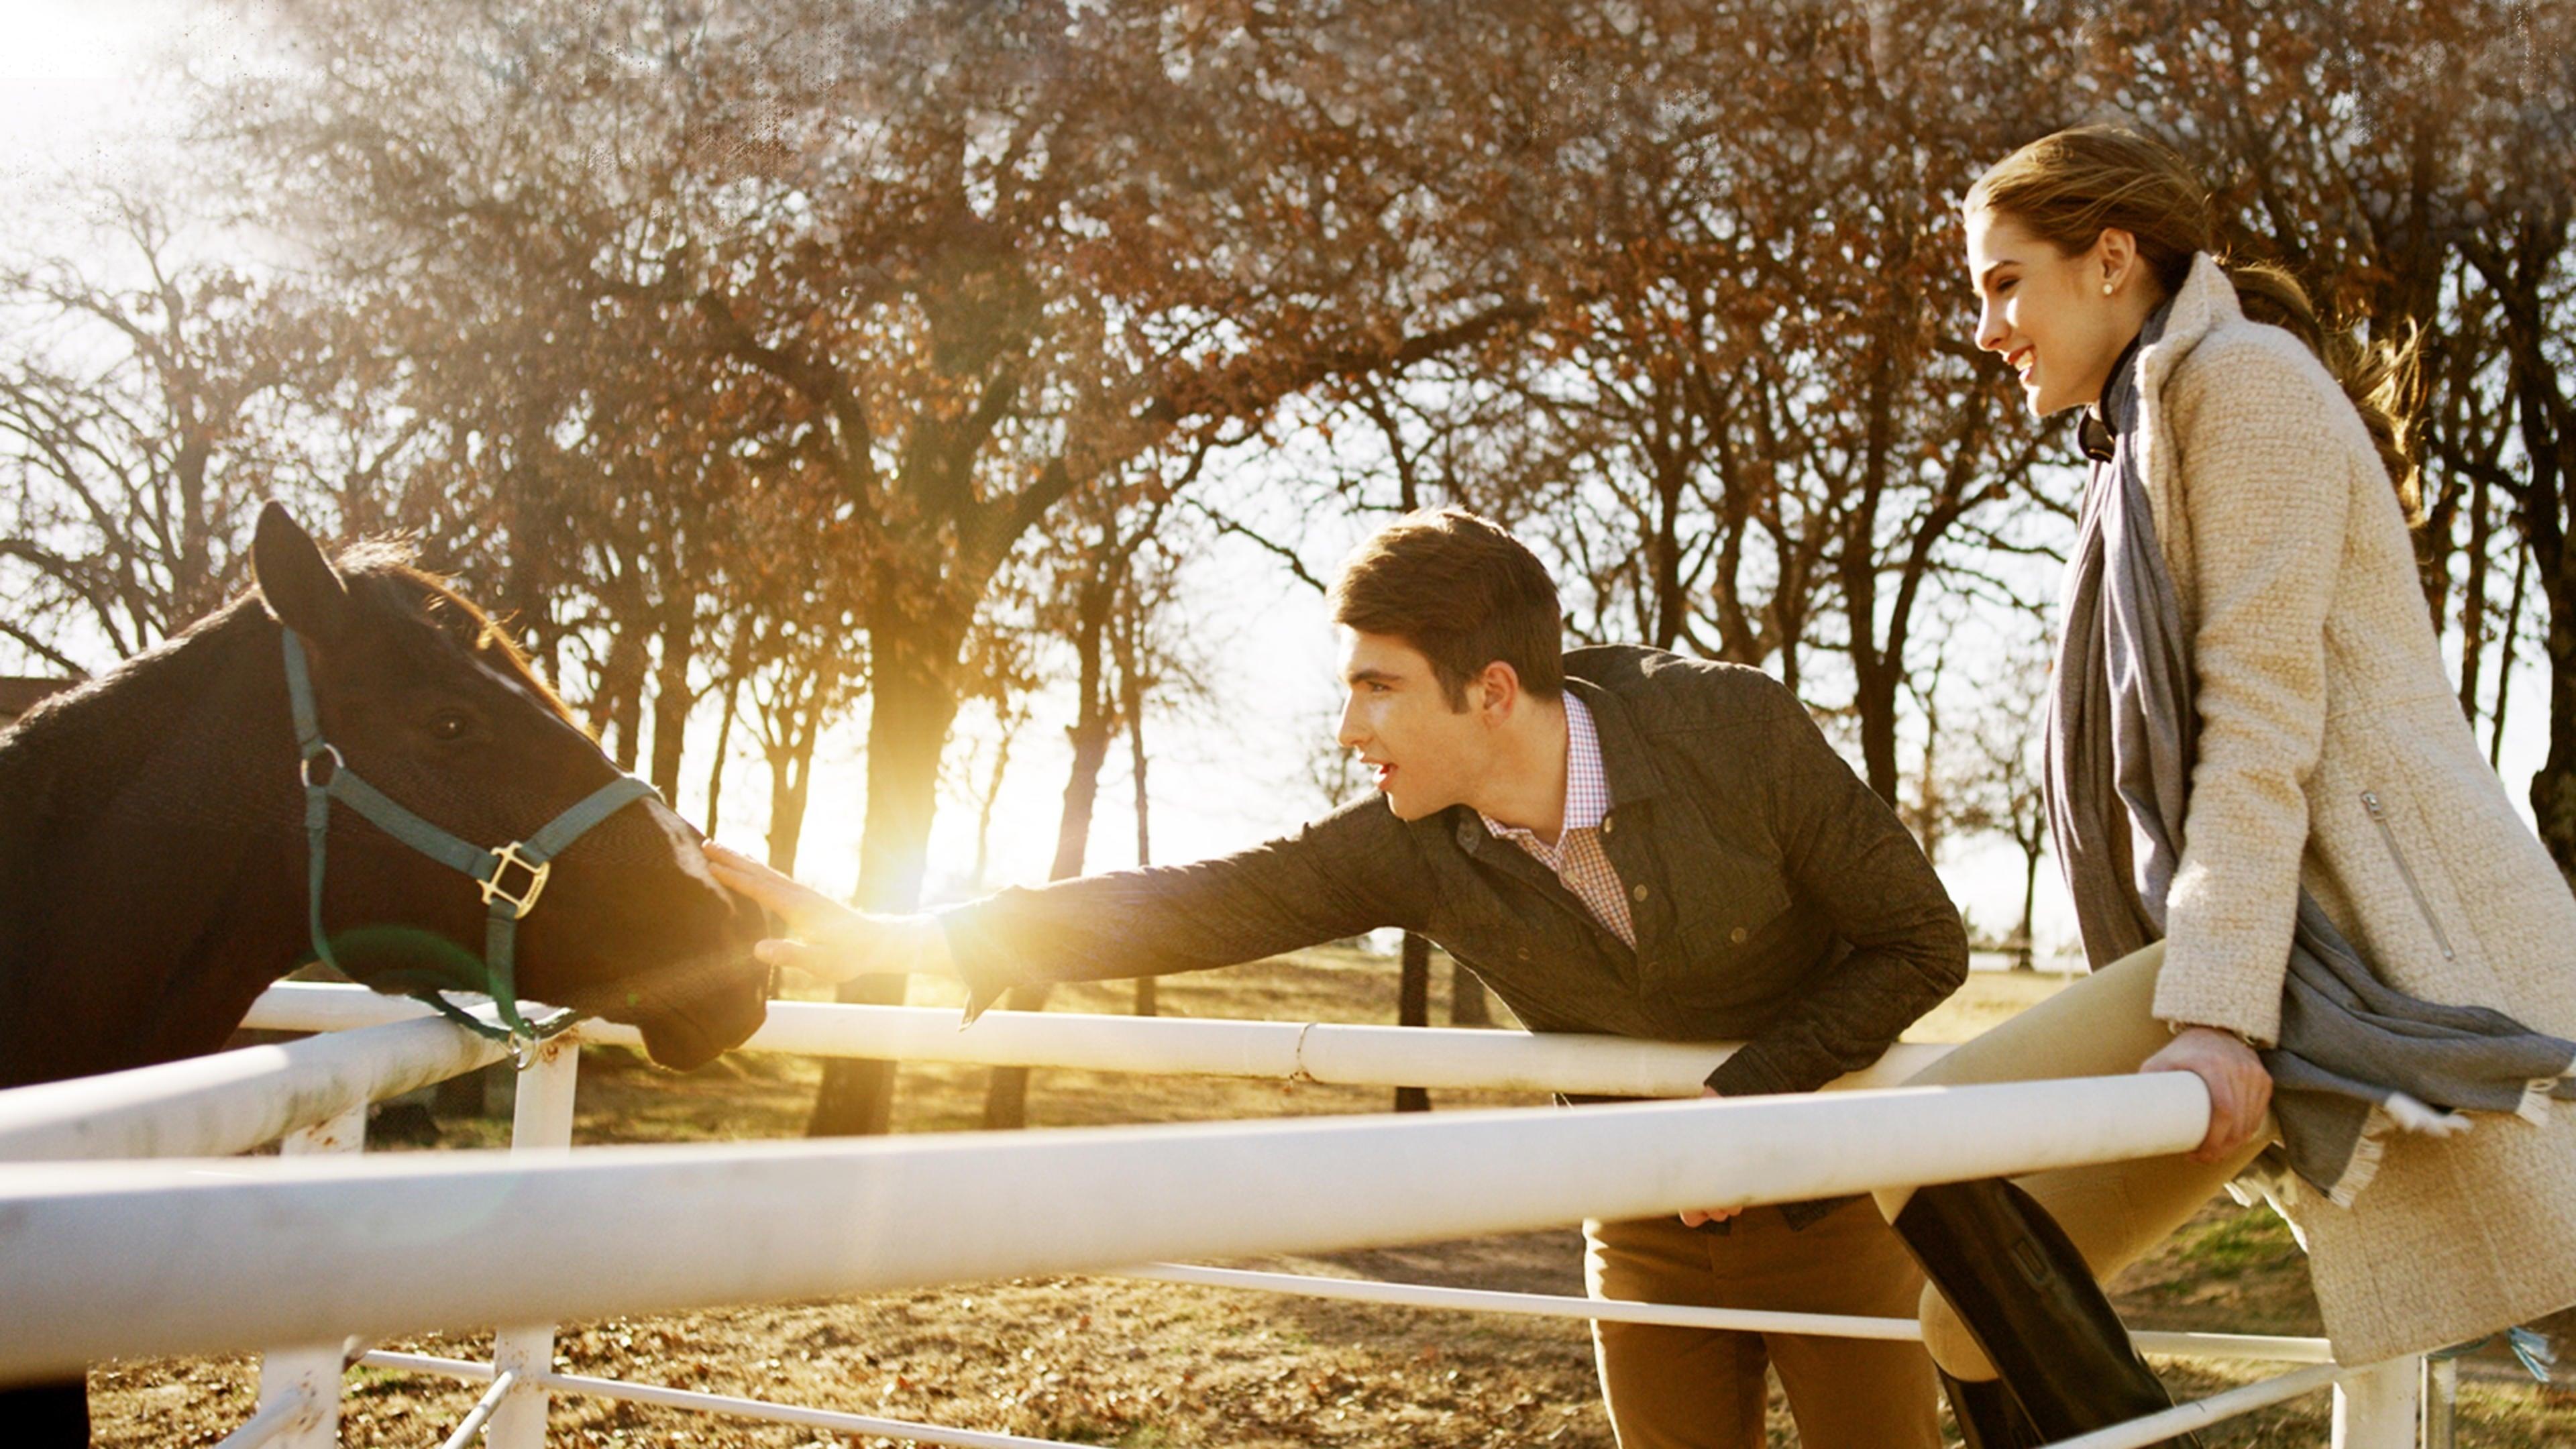
[[[2197,1078],[2097,1078],[1865,1096],[1605,1106],[1582,1114],[1303,1119],[1036,1137],[603,1147],[569,1145],[577,1055],[520,1073],[505,1152],[358,1160],[363,1104],[500,1060],[417,1003],[281,985],[245,1026],[325,1031],[286,1047],[0,1093],[0,1382],[108,1354],[273,1354],[263,1410],[227,1439],[335,1439],[332,1364],[361,1338],[489,1323],[693,1310],[1054,1271],[1157,1256],[1329,1250],[1543,1227],[1680,1207],[1788,1201],[2117,1160],[2200,1140]],[[580,1039],[639,1044],[623,1026]],[[835,1057],[1203,1073],[1352,1085],[1698,1096],[1723,1044],[1525,1036],[1275,1021],[987,1013],[773,1003],[744,1049]],[[1945,1047],[1899,1047],[1842,1088],[1883,1088]],[[240,1152],[299,1132],[289,1158],[106,1163]],[[1999,1145],[2009,1142],[2009,1145]],[[1036,1243],[1028,1225],[1046,1225]],[[222,1250],[209,1250],[222,1243]],[[1342,1284],[1157,1263],[1139,1276],[1365,1297],[1481,1312],[1584,1315],[1579,1299],[1417,1284]],[[1602,1305],[1589,1305],[1600,1315]],[[1618,1318],[1741,1318],[1620,1305]],[[1914,1338],[1904,1320],[1819,1333]],[[1698,1318],[1692,1318],[1698,1323]],[[1716,1320],[1710,1320],[1716,1325]],[[2414,1444],[2416,1361],[2349,1369],[2313,1338],[2138,1336],[2148,1351],[2306,1361],[2311,1369],[2089,1434],[2151,1444],[2324,1385],[2336,1449]],[[546,1395],[631,1397],[935,1444],[1030,1439],[904,1426],[799,1405],[551,1372],[551,1328],[505,1330],[500,1364],[366,1354],[379,1366],[497,1385],[453,1444],[544,1441]],[[489,1415],[489,1423],[482,1423]]]

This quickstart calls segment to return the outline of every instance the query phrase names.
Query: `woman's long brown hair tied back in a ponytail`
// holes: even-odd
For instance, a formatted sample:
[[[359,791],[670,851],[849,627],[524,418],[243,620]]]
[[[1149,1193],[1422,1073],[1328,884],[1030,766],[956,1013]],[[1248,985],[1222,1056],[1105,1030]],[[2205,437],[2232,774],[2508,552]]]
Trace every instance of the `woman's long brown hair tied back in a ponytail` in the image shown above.
[[[1968,188],[1963,211],[1994,211],[2030,227],[2063,255],[2089,250],[2105,227],[2138,237],[2138,258],[2164,294],[2182,291],[2195,253],[2218,250],[2210,193],[2172,147],[2125,126],[2074,126],[2040,137],[1994,162]],[[2424,521],[2416,487],[2414,397],[2419,338],[2362,343],[2318,315],[2308,289],[2285,268],[2221,258],[2246,317],[2290,330],[2344,384],[2352,407],[2380,449],[2409,523]]]

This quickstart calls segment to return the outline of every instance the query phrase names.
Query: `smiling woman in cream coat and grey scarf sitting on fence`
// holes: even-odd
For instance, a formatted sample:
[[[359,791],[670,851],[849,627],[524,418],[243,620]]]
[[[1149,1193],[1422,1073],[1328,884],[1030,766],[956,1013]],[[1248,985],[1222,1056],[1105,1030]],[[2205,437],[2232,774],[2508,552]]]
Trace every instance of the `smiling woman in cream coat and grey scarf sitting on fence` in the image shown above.
[[[2576,897],[2434,642],[2403,358],[2221,266],[2133,131],[2032,142],[1963,214],[1978,345],[2094,459],[2048,773],[2097,969],[1919,1080],[2190,1070],[2213,1106],[2187,1155],[1880,1194],[1968,1444],[2166,1405],[2094,1279],[2267,1147],[2342,1361],[2576,1302]]]

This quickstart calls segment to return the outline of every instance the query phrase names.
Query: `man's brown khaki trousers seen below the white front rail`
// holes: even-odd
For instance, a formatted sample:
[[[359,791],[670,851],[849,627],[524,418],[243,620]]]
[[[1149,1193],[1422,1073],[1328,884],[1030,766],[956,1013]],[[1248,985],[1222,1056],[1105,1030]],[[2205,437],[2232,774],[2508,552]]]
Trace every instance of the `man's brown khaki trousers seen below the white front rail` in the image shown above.
[[[1592,1297],[1775,1312],[1914,1312],[1922,1271],[1868,1204],[1803,1230],[1754,1207],[1728,1232],[1677,1217],[1584,1222]],[[1917,1343],[1595,1323],[1620,1449],[1759,1449],[1762,1366],[1780,1369],[1803,1449],[1940,1449],[1932,1361]]]

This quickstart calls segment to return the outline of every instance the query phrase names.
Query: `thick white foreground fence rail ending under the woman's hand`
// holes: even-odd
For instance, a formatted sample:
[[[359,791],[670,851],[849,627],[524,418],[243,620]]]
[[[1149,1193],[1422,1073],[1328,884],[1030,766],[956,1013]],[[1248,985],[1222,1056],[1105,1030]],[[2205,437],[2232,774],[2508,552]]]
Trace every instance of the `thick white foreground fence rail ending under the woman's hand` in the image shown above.
[[[28,1163],[0,1183],[0,1374],[1793,1201],[2148,1158],[2205,1127],[2200,1078],[2159,1073],[544,1160]]]

